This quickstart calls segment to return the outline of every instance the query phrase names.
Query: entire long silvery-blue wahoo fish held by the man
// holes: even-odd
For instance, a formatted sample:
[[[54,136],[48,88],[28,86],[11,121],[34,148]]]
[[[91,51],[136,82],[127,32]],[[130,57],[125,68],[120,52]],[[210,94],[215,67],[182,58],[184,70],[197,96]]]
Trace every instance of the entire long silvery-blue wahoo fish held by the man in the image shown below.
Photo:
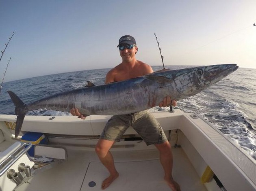
[[[154,72],[115,83],[75,89],[24,104],[8,91],[17,115],[15,138],[26,113],[46,108],[69,111],[78,108],[84,115],[122,115],[157,106],[166,96],[181,100],[206,89],[234,72],[236,64],[222,64]]]

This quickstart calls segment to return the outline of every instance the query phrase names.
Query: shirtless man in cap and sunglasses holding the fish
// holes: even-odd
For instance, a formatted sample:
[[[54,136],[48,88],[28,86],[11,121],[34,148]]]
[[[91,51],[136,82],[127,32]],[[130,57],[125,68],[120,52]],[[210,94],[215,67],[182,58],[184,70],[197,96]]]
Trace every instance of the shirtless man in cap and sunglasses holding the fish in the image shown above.
[[[119,47],[122,62],[106,74],[105,83],[127,80],[153,72],[151,66],[136,59],[135,54],[138,51],[138,47],[132,36],[122,36],[119,39],[119,45],[117,47]],[[171,98],[167,96],[163,99],[163,102],[159,104],[159,107],[165,107],[171,104],[176,106],[176,101],[171,100]],[[70,112],[72,115],[77,115],[85,119],[76,108],[73,108]],[[142,120],[142,124],[144,125],[141,125],[141,122],[135,121],[132,127],[140,134],[147,145],[154,144],[159,150],[160,161],[165,172],[165,181],[172,191],[180,191],[178,183],[174,181],[171,174],[173,166],[171,146],[165,137],[162,127],[148,110],[129,115],[116,115],[106,123],[95,147],[100,161],[110,173],[110,176],[103,181],[102,189],[106,189],[119,176],[115,169],[113,156],[109,150],[116,141],[120,141],[121,136],[131,125],[130,119],[134,116]],[[147,128],[147,131],[150,131],[150,136],[143,134],[145,128]]]

